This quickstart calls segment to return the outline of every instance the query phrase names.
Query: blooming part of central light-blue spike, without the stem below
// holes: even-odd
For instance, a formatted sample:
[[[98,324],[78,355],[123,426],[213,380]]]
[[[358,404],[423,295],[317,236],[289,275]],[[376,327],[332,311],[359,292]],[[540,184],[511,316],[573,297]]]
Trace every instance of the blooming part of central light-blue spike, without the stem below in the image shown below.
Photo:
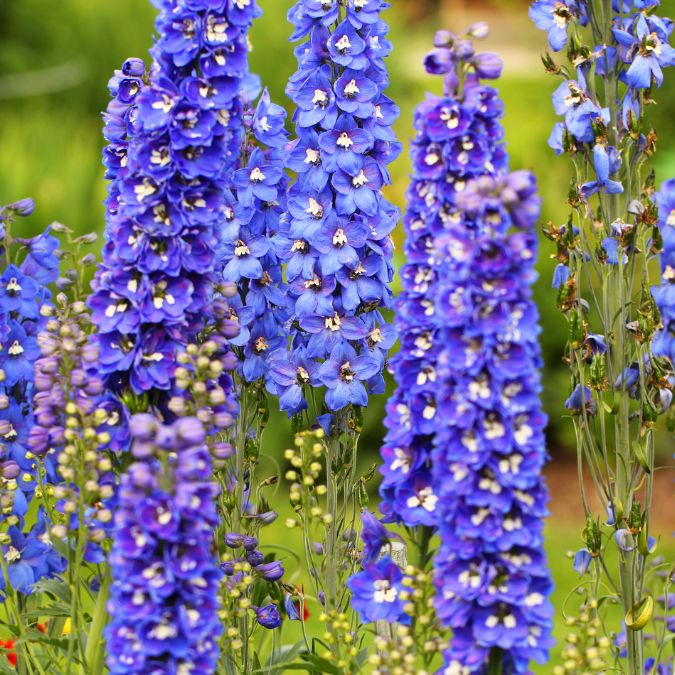
[[[289,161],[297,179],[275,250],[288,263],[292,353],[304,348],[310,359],[328,363],[335,350],[349,348],[354,357],[375,359],[378,368],[369,368],[363,380],[370,393],[380,393],[391,342],[385,347],[377,336],[380,309],[391,304],[389,235],[398,220],[382,187],[390,182],[387,165],[400,144],[391,130],[398,109],[384,95],[389,81],[383,59],[391,44],[380,13],[388,4],[371,4],[350,3],[338,16],[338,3],[319,7],[298,0],[289,12],[293,39],[308,41],[297,50],[299,68],[287,88],[297,107]],[[278,368],[271,377],[283,394],[293,386]],[[311,386],[329,388],[332,410],[367,402],[361,379],[338,388],[328,366],[316,379],[296,384],[292,396],[282,395],[289,414],[306,407],[304,391]]]

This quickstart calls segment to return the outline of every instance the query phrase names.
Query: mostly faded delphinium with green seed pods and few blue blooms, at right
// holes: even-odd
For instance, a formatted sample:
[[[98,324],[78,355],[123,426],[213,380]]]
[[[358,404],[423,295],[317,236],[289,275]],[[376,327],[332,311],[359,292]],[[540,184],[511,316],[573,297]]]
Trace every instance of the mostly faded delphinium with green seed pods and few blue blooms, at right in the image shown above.
[[[616,655],[626,657],[621,667],[631,675],[651,663],[641,620],[652,603],[647,570],[655,543],[654,442],[657,420],[671,407],[674,381],[672,363],[663,358],[671,335],[671,185],[664,184],[658,208],[652,201],[654,174],[644,170],[656,151],[648,106],[665,69],[675,65],[673,22],[657,14],[659,5],[538,0],[531,9],[554,50],[569,45],[568,63],[544,59],[547,71],[563,80],[553,93],[562,121],[549,144],[575,167],[566,195],[570,217],[562,226],[551,224],[546,234],[556,245],[553,286],[569,326],[565,408],[574,418],[580,471],[593,479],[602,511],[609,514],[598,517],[584,497],[585,546],[574,565],[591,577],[589,589],[609,585],[621,604],[625,630],[614,620],[600,625],[607,638],[625,636],[625,649]],[[652,294],[650,268],[662,248],[666,276]],[[616,563],[606,558],[612,549]],[[584,604],[592,610],[591,621],[603,618],[595,591]]]

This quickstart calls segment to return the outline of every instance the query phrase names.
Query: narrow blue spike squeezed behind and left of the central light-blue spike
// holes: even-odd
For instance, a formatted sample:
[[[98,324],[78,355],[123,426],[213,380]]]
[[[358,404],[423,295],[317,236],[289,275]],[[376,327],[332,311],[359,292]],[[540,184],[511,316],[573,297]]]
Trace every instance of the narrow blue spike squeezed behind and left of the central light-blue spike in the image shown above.
[[[286,211],[286,111],[267,89],[257,105],[243,101],[245,135],[238,170],[228,193],[227,225],[220,267],[225,282],[237,286],[229,300],[239,335],[232,345],[239,356],[241,386],[256,398],[269,381],[270,355],[288,340],[285,286],[273,240]],[[260,390],[256,392],[256,389]]]

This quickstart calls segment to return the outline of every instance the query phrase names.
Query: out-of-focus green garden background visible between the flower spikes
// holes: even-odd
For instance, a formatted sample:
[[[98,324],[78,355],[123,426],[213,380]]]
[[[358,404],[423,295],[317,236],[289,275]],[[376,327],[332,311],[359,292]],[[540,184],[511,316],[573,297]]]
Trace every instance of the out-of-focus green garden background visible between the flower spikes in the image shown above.
[[[389,60],[390,95],[401,105],[396,130],[408,143],[413,134],[412,112],[425,91],[439,82],[424,74],[422,58],[434,31],[462,31],[474,21],[487,20],[492,34],[485,48],[502,54],[506,68],[499,84],[506,102],[506,138],[512,167],[536,172],[544,198],[542,223],[565,222],[564,198],[570,180],[569,163],[556,159],[547,146],[555,116],[550,94],[557,82],[545,75],[540,55],[545,35],[527,17],[526,0],[391,0],[387,12],[395,50]],[[288,106],[285,83],[295,69],[286,12],[292,0],[259,0],[264,16],[252,35],[251,68],[260,74],[274,100]],[[664,0],[661,15],[675,14],[675,0]],[[34,197],[37,210],[26,221],[26,234],[52,221],[67,224],[78,234],[101,232],[105,195],[100,153],[100,111],[108,99],[106,83],[128,56],[147,57],[155,10],[146,0],[0,0],[0,203]],[[670,81],[670,84],[668,82]],[[673,74],[658,92],[650,122],[659,133],[655,161],[657,176],[675,176],[675,89]],[[409,161],[404,154],[392,168],[390,199],[404,208]],[[399,251],[402,233],[397,234]],[[553,486],[549,526],[551,559],[559,598],[574,583],[567,549],[578,548],[582,514],[578,506],[576,460],[571,424],[563,416],[569,380],[560,356],[565,323],[550,288],[552,252],[542,241],[541,281],[536,294],[546,361],[545,405],[550,415],[549,449]],[[400,259],[398,261],[400,263]],[[382,436],[384,397],[369,408],[362,442],[362,459],[377,458]],[[266,451],[277,455],[290,442],[288,424],[273,417]],[[669,462],[672,437],[661,435],[661,454]],[[672,466],[670,467],[673,468]],[[672,554],[672,471],[659,473],[657,530]],[[669,503],[668,503],[669,501]],[[665,502],[665,503],[661,503]],[[562,630],[562,628],[560,629]],[[548,669],[542,672],[550,672]]]

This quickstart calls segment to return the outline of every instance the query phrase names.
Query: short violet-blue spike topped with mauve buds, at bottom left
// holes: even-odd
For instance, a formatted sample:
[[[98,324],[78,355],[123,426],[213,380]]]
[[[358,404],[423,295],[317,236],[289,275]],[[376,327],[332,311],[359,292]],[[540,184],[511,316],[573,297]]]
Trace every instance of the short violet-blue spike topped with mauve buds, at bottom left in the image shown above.
[[[218,523],[206,435],[194,418],[131,421],[140,461],[122,478],[106,628],[112,673],[213,673],[218,659]]]

